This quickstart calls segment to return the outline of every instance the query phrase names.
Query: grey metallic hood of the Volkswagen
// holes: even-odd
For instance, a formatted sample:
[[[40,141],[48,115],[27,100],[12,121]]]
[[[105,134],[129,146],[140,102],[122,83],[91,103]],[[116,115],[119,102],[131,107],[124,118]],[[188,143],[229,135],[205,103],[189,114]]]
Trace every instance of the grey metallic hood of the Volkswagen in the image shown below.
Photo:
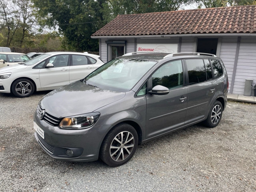
[[[62,118],[93,112],[124,96],[124,92],[102,90],[76,81],[45,95],[40,101],[40,107],[46,113]]]

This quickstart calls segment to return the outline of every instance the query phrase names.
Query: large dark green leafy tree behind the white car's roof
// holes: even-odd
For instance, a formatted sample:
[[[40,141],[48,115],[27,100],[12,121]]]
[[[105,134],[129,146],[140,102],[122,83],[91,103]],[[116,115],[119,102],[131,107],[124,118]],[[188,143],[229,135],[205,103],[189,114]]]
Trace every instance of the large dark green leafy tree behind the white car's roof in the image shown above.
[[[41,23],[56,27],[76,51],[98,51],[97,39],[91,35],[103,26],[100,9],[103,0],[33,0]]]

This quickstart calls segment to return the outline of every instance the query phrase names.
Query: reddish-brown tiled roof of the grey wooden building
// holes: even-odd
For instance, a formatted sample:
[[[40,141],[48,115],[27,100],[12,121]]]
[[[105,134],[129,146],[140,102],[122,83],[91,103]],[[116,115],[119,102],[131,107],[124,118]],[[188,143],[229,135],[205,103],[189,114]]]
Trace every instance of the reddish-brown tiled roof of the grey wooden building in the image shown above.
[[[92,36],[256,33],[256,5],[118,15]]]

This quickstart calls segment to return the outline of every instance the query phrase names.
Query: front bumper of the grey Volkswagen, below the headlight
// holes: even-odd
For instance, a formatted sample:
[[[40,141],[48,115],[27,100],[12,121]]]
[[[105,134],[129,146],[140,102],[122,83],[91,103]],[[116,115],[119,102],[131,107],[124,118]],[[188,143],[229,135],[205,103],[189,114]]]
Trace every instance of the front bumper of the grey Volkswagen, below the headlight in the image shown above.
[[[60,129],[40,120],[37,112],[34,113],[34,122],[44,131],[44,139],[38,133],[35,133],[35,138],[48,155],[76,162],[96,161],[101,143],[112,128],[111,125],[98,125],[81,130]],[[67,149],[73,150],[75,157],[68,156],[65,153]]]

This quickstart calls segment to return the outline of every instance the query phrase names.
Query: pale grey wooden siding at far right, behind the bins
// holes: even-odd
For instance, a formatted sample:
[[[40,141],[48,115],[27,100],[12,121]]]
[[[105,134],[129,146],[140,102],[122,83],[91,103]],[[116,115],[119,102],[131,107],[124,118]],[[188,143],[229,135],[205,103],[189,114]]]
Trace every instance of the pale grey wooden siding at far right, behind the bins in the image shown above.
[[[253,79],[253,87],[256,84],[256,38],[242,37],[238,53],[236,76],[233,93],[244,94],[246,79]],[[254,90],[252,89],[252,95]]]

